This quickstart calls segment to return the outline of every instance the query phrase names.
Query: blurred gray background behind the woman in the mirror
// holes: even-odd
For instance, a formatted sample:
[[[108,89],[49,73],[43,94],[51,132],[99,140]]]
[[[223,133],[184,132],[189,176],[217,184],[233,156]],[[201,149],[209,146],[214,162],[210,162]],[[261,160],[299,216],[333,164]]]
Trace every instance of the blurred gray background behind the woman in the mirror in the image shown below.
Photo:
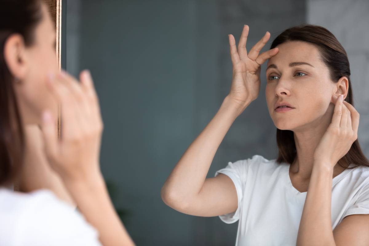
[[[160,189],[211,120],[232,79],[228,34],[247,48],[302,23],[338,38],[351,63],[359,141],[369,156],[369,1],[63,0],[62,66],[90,69],[104,121],[101,169],[115,208],[137,245],[234,245],[237,223],[182,214]],[[264,51],[263,50],[263,51]],[[229,161],[275,159],[276,128],[261,92],[221,143],[208,176]],[[266,235],[268,236],[268,235]]]

